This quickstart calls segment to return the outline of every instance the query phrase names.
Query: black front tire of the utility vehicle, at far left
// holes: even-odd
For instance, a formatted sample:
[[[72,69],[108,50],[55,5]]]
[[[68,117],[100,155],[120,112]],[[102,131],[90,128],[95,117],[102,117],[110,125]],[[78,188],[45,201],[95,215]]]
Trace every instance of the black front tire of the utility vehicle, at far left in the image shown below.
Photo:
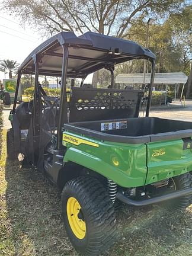
[[[7,131],[7,157],[9,160],[18,159],[18,153],[15,152],[14,131],[12,128]]]

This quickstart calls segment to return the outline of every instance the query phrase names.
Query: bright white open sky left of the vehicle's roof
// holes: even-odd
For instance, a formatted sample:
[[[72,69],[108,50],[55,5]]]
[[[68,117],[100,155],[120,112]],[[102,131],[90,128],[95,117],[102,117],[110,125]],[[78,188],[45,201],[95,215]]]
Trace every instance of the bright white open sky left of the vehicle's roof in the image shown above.
[[[32,50],[46,40],[28,26],[21,27],[17,19],[3,11],[0,11],[0,38],[0,60],[10,59],[18,63],[22,63]],[[4,73],[0,72],[0,79],[3,78]]]

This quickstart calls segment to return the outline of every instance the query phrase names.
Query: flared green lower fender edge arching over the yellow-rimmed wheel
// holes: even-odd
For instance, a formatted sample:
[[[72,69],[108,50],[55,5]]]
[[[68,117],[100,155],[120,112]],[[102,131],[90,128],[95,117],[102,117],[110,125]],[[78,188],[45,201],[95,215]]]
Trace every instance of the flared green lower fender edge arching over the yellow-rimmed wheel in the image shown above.
[[[143,185],[142,177],[129,177],[126,173],[121,171],[118,167],[104,162],[97,156],[93,156],[87,152],[81,151],[77,148],[68,148],[63,158],[64,162],[75,162],[76,164],[82,165],[92,171],[98,172],[98,174],[113,180],[121,187],[138,187]]]

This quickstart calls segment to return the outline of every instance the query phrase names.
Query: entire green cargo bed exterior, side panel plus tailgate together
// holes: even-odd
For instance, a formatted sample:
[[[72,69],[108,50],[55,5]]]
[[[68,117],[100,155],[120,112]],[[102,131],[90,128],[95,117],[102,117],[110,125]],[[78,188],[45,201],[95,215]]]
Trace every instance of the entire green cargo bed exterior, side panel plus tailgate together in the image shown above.
[[[65,135],[98,146],[63,141],[67,147],[64,162],[92,169],[121,187],[139,187],[192,170],[192,149],[183,149],[182,139],[132,145],[103,142],[71,132]]]

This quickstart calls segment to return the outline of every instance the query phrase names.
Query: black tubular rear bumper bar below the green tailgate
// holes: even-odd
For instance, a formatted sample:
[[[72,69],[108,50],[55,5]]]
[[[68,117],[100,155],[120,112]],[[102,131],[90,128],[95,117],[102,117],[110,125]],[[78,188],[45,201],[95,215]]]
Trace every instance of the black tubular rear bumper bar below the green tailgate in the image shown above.
[[[192,187],[186,188],[185,190],[178,190],[170,194],[165,194],[163,196],[153,197],[152,199],[146,199],[142,201],[130,199],[119,192],[117,193],[116,197],[123,203],[129,204],[131,206],[148,206],[149,204],[161,203],[162,201],[177,199],[178,197],[187,196],[188,194],[192,194]]]

